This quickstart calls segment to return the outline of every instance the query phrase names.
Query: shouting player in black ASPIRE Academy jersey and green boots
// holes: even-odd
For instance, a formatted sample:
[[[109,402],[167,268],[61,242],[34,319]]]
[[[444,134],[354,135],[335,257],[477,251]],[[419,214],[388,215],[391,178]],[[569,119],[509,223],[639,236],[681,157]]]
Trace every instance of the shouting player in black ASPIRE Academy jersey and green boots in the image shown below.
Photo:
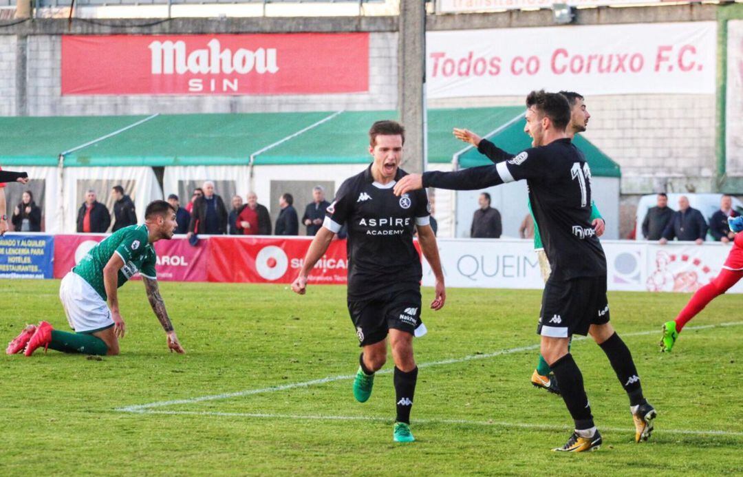
[[[425,191],[395,196],[392,187],[406,172],[399,169],[405,131],[394,121],[378,121],[369,130],[369,167],[346,179],[328,207],[325,222],[312,241],[302,270],[291,285],[304,294],[308,276],[343,224],[348,229],[348,313],[356,327],[363,351],[354,380],[354,397],[365,402],[371,395],[374,372],[387,359],[387,335],[395,360],[397,418],[395,442],[415,441],[410,432],[418,366],[413,359],[412,339],[422,336],[421,256],[413,244],[418,230],[426,260],[435,275],[433,310],[444,306],[444,273],[438,247],[429,225]]]

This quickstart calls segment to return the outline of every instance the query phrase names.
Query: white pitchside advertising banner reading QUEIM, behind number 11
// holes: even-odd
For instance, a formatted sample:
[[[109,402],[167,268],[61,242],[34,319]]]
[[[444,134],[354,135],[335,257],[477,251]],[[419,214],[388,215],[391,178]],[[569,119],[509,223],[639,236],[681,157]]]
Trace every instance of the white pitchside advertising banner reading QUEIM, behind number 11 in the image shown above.
[[[610,291],[691,293],[720,272],[731,244],[606,240]],[[438,239],[444,278],[450,288],[544,288],[532,240]],[[433,285],[424,260],[423,284]],[[743,293],[743,280],[727,293]]]

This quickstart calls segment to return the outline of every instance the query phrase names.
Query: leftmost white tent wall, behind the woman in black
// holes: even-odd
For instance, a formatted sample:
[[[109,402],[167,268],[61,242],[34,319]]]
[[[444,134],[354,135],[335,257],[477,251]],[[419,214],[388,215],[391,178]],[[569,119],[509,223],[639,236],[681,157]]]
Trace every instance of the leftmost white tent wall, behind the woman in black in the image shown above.
[[[33,185],[33,181],[44,181],[44,208],[42,210],[44,231],[46,233],[62,232],[62,223],[59,220],[59,168],[39,166],[12,166],[7,167],[6,169],[28,172],[28,177],[32,181],[29,185]],[[20,195],[22,195],[23,191],[28,188],[28,186],[23,186],[22,184],[7,184],[7,187],[5,188],[5,195],[9,212],[3,213],[7,213],[10,216],[10,214],[13,213],[13,208],[16,207],[16,204],[18,204],[20,201]],[[33,187],[31,189],[33,189]],[[42,201],[40,200],[38,195],[39,192],[36,192],[34,201],[36,201],[36,204],[41,207]]]

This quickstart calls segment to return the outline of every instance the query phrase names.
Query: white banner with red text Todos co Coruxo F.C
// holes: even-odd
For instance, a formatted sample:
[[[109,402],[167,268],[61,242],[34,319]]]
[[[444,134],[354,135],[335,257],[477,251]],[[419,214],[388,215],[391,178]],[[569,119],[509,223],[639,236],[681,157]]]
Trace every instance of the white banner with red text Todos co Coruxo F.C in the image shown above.
[[[716,22],[431,31],[427,94],[714,94],[716,35]]]

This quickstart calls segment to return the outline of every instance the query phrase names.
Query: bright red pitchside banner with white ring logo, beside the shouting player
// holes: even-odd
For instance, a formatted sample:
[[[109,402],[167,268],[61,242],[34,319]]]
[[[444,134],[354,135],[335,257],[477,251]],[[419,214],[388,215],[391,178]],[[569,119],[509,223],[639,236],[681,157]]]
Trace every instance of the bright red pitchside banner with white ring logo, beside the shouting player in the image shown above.
[[[210,282],[291,283],[302,268],[311,238],[210,239]],[[343,285],[348,260],[345,240],[336,240],[315,265],[309,282]]]

